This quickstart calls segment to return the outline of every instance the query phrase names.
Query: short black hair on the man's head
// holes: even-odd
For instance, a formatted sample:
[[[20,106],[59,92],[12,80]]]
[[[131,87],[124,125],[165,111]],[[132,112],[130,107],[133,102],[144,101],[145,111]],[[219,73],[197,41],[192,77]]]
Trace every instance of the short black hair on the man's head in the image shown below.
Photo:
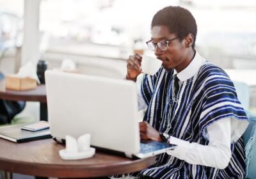
[[[193,49],[195,48],[197,26],[193,15],[180,6],[168,6],[159,10],[151,22],[151,29],[154,26],[166,26],[170,33],[174,33],[180,40],[183,40],[189,33],[194,36]]]

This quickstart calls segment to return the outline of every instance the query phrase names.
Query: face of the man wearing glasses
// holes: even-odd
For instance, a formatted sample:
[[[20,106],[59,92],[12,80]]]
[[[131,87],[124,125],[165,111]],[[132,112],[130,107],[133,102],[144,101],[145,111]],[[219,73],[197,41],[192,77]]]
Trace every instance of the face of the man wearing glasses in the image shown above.
[[[154,26],[151,31],[151,40],[154,43],[164,40],[171,40],[177,36],[170,33],[168,27],[166,26]],[[188,55],[188,47],[186,47],[186,40],[180,41],[178,38],[168,43],[167,51],[161,51],[156,47],[155,54],[156,57],[163,61],[163,67],[166,70],[175,68],[177,72],[182,71],[186,66],[188,66],[191,59]]]

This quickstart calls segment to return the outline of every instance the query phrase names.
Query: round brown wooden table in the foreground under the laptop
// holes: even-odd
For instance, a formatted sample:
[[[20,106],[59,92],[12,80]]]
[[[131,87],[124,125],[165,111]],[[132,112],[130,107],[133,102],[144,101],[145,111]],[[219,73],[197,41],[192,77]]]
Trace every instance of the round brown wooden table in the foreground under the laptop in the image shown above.
[[[140,171],[156,157],[132,160],[96,152],[90,159],[63,160],[58,153],[65,148],[52,139],[13,143],[0,138],[0,170],[24,175],[58,178],[91,178]]]

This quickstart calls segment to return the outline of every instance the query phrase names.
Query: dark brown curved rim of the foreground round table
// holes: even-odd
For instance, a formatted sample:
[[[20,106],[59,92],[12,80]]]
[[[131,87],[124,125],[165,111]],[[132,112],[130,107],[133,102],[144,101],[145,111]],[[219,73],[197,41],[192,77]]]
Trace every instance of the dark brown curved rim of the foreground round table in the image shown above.
[[[46,176],[58,178],[82,178],[82,177],[99,177],[120,175],[140,171],[154,164],[155,156],[147,159],[138,159],[113,164],[109,167],[115,167],[109,170],[109,167],[100,166],[83,166],[83,165],[58,165],[58,164],[40,164],[31,162],[17,162],[15,160],[6,160],[0,158],[0,169],[12,173],[21,173],[24,175]],[[22,165],[22,167],[20,167]],[[100,173],[100,175],[99,175]]]

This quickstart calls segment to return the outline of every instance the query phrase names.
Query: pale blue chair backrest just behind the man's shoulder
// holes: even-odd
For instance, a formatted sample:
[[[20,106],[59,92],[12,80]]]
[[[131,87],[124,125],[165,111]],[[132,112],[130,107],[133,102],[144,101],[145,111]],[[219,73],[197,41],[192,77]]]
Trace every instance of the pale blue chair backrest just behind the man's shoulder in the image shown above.
[[[239,101],[244,109],[248,110],[250,105],[250,88],[245,82],[233,81]]]

